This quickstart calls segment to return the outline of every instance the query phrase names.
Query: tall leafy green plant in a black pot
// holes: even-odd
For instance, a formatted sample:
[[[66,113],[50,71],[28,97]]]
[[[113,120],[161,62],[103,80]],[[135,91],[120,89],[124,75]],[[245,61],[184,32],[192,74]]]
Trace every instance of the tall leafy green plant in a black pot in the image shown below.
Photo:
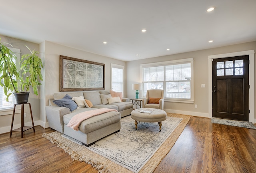
[[[29,86],[32,86],[34,94],[38,95],[38,86],[41,85],[39,80],[43,80],[41,74],[42,60],[37,56],[39,52],[31,51],[26,46],[30,54],[22,55],[20,63],[22,75],[20,76],[20,71],[18,71],[14,62],[16,56],[4,44],[7,43],[0,42],[0,86],[4,88],[6,101],[9,101],[9,96],[14,92],[17,103],[27,103],[30,93],[28,92]],[[18,82],[20,82],[20,87],[24,92],[18,91]]]

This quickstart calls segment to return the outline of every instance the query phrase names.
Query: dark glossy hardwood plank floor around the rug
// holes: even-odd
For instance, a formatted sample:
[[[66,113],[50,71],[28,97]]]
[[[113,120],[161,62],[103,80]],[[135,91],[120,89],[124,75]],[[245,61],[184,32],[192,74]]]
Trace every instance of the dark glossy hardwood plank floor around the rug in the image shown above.
[[[36,126],[0,135],[1,173],[97,173],[90,165],[72,161]],[[154,173],[256,173],[256,130],[212,124],[208,118],[191,117],[188,125]]]

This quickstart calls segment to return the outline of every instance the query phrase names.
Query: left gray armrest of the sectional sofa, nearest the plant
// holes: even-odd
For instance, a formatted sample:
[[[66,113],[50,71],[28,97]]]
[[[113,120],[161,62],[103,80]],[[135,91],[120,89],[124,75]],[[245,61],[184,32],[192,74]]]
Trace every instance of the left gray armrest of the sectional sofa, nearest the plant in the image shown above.
[[[45,111],[50,127],[63,133],[63,116],[70,113],[70,109],[68,109],[67,107],[46,106]]]

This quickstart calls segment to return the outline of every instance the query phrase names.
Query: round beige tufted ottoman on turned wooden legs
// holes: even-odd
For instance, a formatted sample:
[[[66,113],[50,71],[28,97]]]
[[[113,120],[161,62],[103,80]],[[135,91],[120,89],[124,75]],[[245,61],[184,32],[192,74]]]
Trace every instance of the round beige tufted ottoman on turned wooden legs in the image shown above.
[[[140,111],[152,111],[151,113],[142,113]],[[135,120],[135,129],[137,130],[138,121],[156,123],[158,122],[159,130],[161,131],[162,121],[166,120],[166,111],[155,108],[134,109],[131,112],[131,118]]]

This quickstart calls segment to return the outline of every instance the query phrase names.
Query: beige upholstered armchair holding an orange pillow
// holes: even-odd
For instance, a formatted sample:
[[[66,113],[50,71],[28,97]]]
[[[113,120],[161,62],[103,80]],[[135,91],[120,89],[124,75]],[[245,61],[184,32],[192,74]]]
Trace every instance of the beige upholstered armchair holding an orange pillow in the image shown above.
[[[146,99],[142,100],[142,107],[164,109],[164,90],[149,89],[147,91]]]

